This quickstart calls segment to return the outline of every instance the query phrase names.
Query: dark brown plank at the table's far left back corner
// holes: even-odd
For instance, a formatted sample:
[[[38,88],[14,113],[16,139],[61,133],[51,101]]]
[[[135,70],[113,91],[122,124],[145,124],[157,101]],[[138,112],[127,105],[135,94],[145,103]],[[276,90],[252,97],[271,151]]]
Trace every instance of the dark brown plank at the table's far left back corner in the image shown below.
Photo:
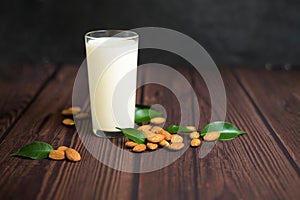
[[[54,65],[0,65],[0,142],[55,69]]]

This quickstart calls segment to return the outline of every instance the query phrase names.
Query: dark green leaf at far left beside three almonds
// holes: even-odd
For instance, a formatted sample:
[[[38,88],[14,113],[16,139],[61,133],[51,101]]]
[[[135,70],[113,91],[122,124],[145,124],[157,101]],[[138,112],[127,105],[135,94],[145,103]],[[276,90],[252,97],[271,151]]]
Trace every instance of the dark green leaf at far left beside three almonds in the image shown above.
[[[53,150],[50,144],[45,142],[32,142],[23,146],[19,151],[11,154],[11,156],[21,156],[31,159],[44,159]]]

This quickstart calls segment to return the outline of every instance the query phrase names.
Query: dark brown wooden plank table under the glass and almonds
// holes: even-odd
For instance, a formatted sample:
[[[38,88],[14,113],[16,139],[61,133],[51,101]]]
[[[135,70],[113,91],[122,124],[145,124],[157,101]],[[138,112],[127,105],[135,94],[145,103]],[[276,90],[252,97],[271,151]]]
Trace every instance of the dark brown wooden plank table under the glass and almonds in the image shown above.
[[[187,125],[200,129],[210,120],[210,97],[200,75],[176,68],[198,95],[186,97]],[[147,79],[153,73],[139,75]],[[174,163],[148,173],[127,173],[95,159],[74,127],[62,125],[62,109],[72,105],[78,66],[4,65],[0,73],[0,199],[300,199],[300,70],[221,69],[229,121],[248,134],[218,142],[199,159],[200,148]],[[172,77],[164,77],[176,84]],[[180,87],[180,85],[178,85]],[[86,101],[86,100],[85,100]],[[161,104],[167,124],[179,119],[174,95],[159,85],[146,85],[137,102]],[[87,128],[86,131],[91,133]],[[92,133],[91,133],[92,134]],[[97,138],[96,138],[97,139]],[[77,149],[82,160],[30,160],[10,157],[21,146],[43,141]],[[122,148],[124,139],[114,141]],[[115,159],[115,158],[111,158]]]

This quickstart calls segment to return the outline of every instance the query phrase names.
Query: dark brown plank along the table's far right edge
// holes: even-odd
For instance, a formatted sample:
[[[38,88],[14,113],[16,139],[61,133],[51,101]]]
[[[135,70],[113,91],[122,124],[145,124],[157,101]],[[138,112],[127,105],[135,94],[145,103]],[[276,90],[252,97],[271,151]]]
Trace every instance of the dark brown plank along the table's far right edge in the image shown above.
[[[300,70],[236,69],[265,123],[300,166]]]

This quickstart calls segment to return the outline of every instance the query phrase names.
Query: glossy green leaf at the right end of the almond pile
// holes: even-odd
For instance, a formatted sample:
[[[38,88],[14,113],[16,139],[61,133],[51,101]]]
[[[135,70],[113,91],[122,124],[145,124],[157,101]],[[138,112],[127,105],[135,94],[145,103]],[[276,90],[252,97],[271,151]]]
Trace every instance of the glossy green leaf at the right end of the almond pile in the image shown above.
[[[220,132],[219,141],[232,140],[239,135],[246,134],[245,131],[240,131],[236,126],[228,122],[217,121],[206,125],[201,131],[201,136],[208,132]]]

